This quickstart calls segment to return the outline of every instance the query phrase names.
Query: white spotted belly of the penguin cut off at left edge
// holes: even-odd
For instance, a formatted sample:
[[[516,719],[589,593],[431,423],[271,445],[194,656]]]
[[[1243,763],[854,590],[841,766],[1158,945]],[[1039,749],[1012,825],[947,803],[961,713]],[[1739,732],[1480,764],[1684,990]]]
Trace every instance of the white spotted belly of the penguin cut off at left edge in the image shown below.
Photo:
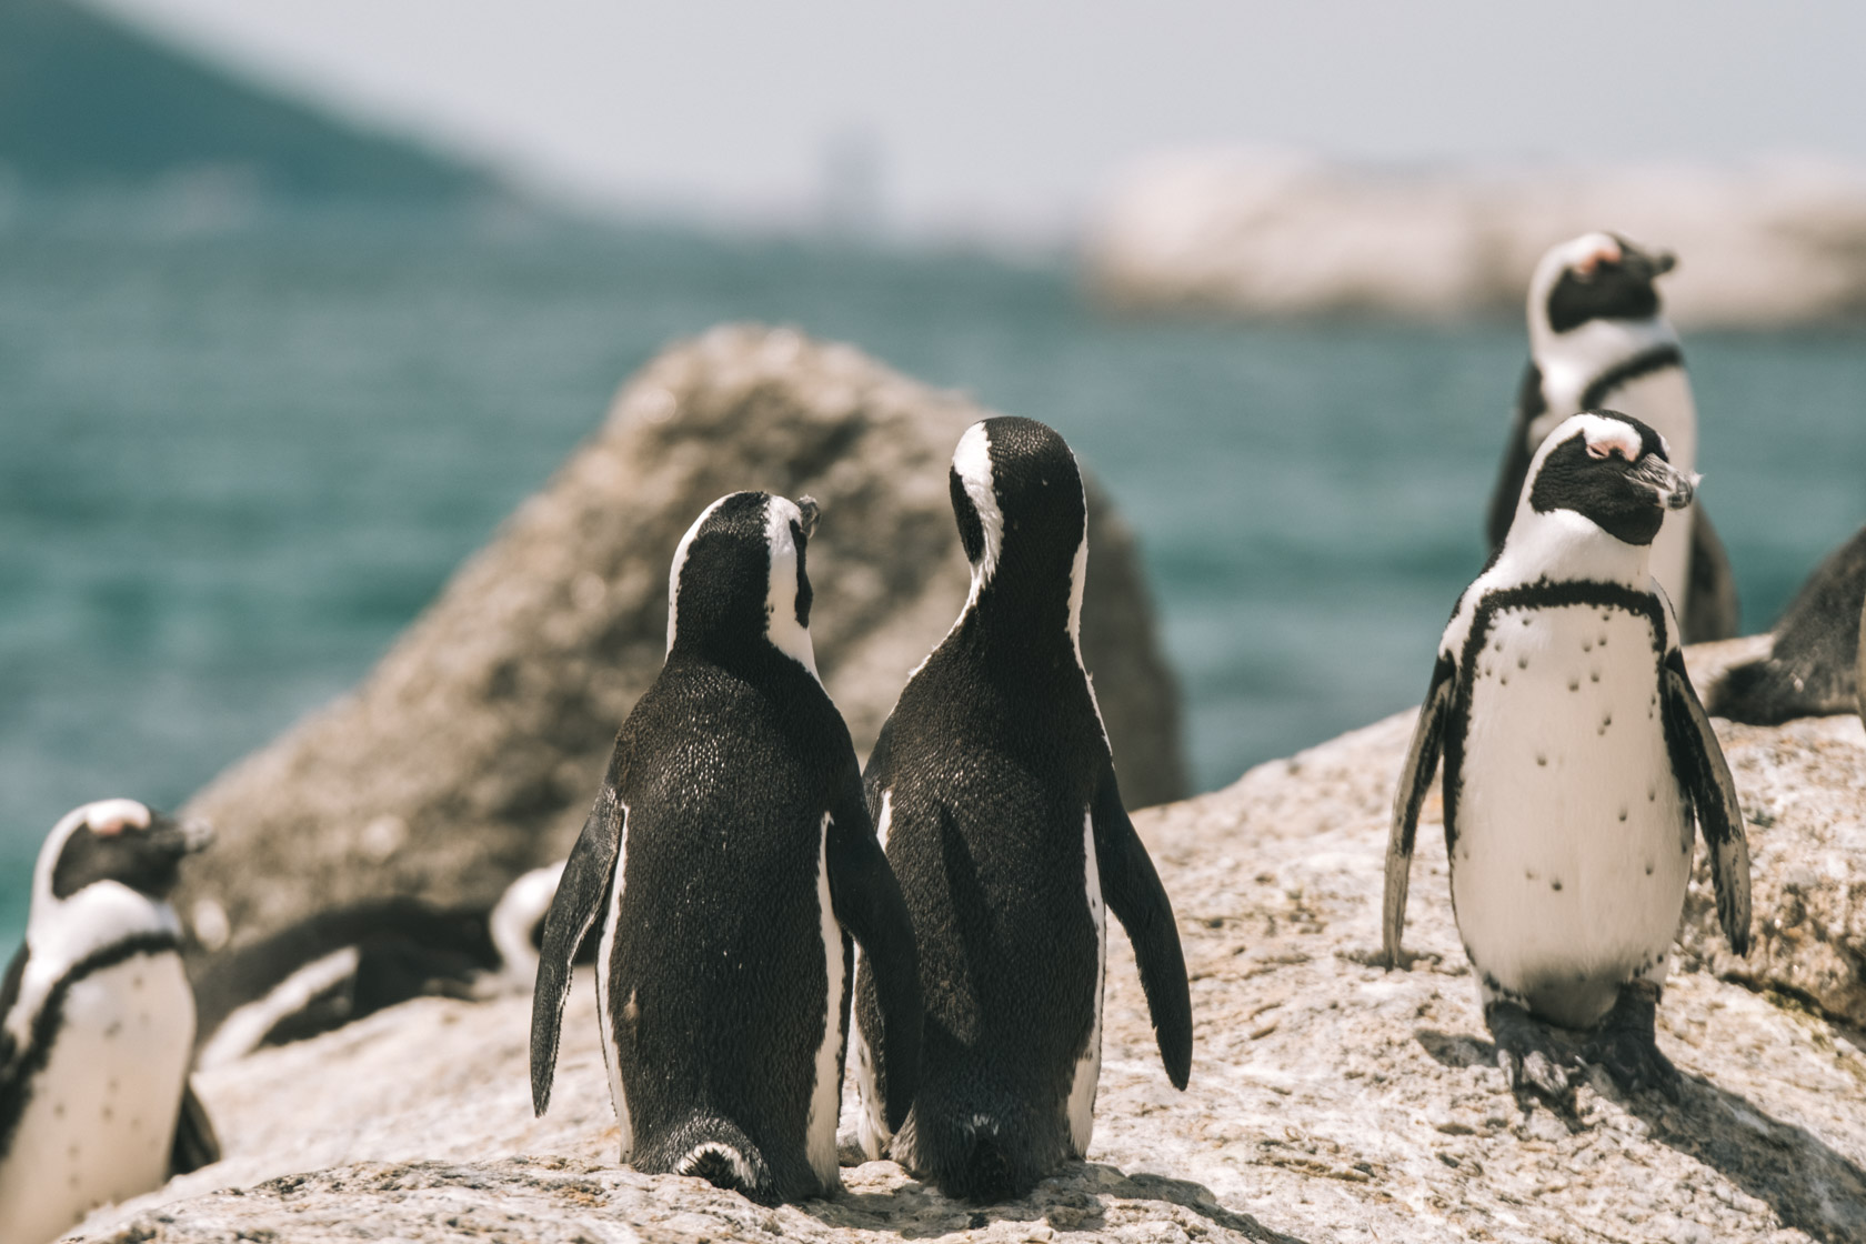
[[[37,1244],[99,1205],[168,1182],[194,1044],[175,953],[138,955],[65,994],[50,1059],[0,1160],[0,1240]]]

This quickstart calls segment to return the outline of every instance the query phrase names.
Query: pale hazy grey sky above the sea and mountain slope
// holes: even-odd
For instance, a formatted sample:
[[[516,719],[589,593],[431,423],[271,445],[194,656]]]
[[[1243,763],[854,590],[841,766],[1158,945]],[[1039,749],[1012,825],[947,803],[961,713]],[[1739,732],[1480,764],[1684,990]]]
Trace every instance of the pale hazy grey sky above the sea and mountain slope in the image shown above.
[[[91,0],[593,203],[1051,229],[1136,157],[1866,162],[1866,4]],[[842,138],[840,138],[842,136]]]

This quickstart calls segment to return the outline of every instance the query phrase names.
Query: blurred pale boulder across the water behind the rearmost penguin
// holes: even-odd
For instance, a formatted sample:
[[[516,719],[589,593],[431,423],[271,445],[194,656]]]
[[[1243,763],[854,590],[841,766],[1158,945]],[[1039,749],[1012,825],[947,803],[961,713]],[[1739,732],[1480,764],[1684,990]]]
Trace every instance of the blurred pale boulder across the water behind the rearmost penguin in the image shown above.
[[[1616,229],[1679,256],[1681,325],[1866,315],[1866,170],[1364,170],[1209,151],[1133,168],[1090,229],[1095,295],[1246,315],[1517,315],[1551,244]]]

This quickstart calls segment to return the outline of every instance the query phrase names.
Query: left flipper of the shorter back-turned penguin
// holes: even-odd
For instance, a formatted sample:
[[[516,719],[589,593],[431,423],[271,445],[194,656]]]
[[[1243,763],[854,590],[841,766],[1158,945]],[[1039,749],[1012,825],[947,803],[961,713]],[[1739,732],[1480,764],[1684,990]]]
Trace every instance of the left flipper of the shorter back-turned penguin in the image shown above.
[[[550,1082],[558,1072],[558,1030],[571,994],[571,964],[608,901],[627,817],[614,783],[605,781],[545,914],[545,944],[537,951],[532,988],[532,1110],[539,1115],[550,1106]]]

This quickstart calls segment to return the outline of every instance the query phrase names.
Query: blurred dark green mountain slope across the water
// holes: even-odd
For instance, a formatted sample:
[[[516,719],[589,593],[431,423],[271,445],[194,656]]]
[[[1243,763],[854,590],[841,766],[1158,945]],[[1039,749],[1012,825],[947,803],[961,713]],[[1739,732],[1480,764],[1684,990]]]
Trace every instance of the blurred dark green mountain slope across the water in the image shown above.
[[[0,0],[0,168],[47,190],[230,170],[287,200],[498,192],[483,172],[325,116],[63,0]]]

